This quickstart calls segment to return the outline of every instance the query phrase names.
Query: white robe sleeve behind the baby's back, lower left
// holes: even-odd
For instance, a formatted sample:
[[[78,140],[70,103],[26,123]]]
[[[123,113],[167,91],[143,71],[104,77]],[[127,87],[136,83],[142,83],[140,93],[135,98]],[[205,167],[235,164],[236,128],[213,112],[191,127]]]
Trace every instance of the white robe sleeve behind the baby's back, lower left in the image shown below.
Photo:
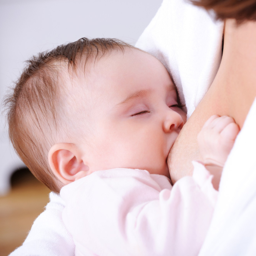
[[[74,256],[75,245],[62,221],[64,201],[53,192],[50,202],[37,219],[23,245],[11,256]],[[18,227],[17,227],[18,228]]]

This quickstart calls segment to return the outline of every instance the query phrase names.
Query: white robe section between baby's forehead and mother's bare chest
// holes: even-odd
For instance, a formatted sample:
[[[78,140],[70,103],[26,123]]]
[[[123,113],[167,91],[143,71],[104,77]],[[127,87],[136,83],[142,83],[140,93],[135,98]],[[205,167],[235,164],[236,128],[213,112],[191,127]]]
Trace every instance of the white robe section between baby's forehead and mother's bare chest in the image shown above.
[[[206,94],[221,61],[223,22],[185,0],[164,0],[136,46],[170,72],[187,117]]]

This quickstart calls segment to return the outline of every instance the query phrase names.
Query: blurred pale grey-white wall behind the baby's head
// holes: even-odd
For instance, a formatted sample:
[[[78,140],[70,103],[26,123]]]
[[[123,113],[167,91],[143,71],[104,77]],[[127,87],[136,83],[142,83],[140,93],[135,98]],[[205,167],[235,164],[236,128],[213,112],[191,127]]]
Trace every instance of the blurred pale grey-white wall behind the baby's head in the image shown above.
[[[81,37],[119,38],[135,44],[162,0],[0,0],[0,100],[24,61]],[[0,194],[22,166],[0,118]]]

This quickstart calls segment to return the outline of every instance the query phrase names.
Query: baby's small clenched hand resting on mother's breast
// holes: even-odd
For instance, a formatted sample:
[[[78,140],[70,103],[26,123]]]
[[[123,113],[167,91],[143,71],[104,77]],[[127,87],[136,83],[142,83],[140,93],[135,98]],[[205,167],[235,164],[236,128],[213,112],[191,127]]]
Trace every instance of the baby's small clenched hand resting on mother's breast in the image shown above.
[[[239,127],[233,118],[212,115],[197,136],[204,164],[223,167],[238,132]]]

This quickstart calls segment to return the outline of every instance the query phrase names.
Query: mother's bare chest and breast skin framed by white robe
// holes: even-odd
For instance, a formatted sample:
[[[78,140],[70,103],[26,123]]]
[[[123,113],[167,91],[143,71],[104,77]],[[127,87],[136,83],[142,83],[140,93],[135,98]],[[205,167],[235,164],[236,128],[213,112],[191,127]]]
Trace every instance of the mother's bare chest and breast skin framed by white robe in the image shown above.
[[[236,20],[228,19],[225,21],[223,57],[218,73],[181,130],[167,159],[173,183],[181,177],[191,176],[191,161],[201,160],[197,134],[204,122],[214,114],[229,115],[242,128],[255,97],[256,22],[237,25]],[[214,182],[219,182],[218,176]]]

